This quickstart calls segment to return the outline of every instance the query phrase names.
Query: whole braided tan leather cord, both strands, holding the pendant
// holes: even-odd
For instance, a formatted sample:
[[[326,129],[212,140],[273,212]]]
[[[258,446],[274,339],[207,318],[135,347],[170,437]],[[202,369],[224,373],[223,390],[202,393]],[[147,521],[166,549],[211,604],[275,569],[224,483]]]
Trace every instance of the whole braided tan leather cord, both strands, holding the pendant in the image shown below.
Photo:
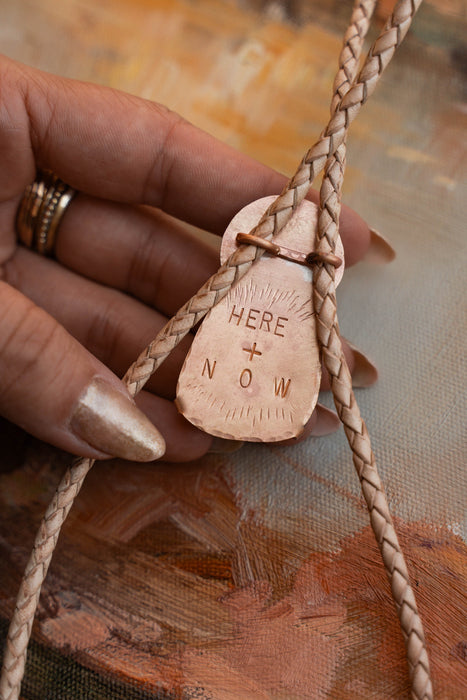
[[[373,44],[364,66],[353,82],[361,43],[371,16],[373,2],[356,3],[345,35],[339,72],[334,83],[331,119],[318,142],[308,151],[281,195],[251,231],[271,239],[290,219],[306,196],[315,176],[326,167],[320,192],[317,234],[321,252],[334,249],[338,231],[340,191],[345,165],[345,139],[350,123],[373,92],[376,82],[405,36],[422,0],[401,0],[385,29]],[[231,286],[248,272],[264,251],[241,246],[166,324],[157,338],[138,357],[124,377],[135,395],[171,350],[222,299]],[[370,513],[370,521],[389,575],[392,595],[406,641],[412,683],[412,697],[431,700],[432,689],[424,635],[407,568],[397,542],[389,509],[376,471],[368,432],[352,392],[350,372],[342,354],[336,316],[334,268],[323,265],[314,274],[314,304],[318,339],[323,360],[331,376],[338,414],[353,452],[354,465]],[[0,680],[1,700],[17,700],[24,674],[27,646],[40,589],[54,547],[68,512],[93,461],[80,459],[66,472],[41,523],[34,549],[21,583],[10,625]]]

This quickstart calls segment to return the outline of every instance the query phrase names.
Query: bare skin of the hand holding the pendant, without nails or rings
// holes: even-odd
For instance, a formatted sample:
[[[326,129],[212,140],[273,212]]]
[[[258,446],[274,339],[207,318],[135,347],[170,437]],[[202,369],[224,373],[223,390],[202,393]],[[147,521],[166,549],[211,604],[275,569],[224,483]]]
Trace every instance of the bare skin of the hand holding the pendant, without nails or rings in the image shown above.
[[[219,266],[184,222],[222,235],[239,209],[277,194],[286,180],[131,95],[5,57],[0,85],[0,415],[64,450],[100,457],[70,427],[78,397],[96,376],[121,385],[118,377]],[[15,234],[18,205],[39,168],[79,191],[53,260],[18,246]],[[369,230],[345,207],[341,236],[346,264],[355,264]],[[172,403],[190,342],[137,399],[171,460],[199,457],[212,440]],[[352,367],[347,346],[346,354]]]

